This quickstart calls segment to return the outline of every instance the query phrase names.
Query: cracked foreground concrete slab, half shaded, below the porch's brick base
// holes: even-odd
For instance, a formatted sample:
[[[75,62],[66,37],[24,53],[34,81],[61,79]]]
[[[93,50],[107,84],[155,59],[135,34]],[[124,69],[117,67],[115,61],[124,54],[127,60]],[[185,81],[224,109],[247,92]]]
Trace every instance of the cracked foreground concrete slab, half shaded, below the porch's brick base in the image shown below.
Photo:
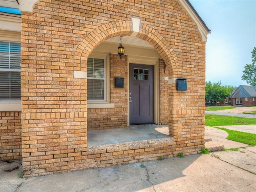
[[[76,171],[20,180],[2,192],[254,192],[256,175],[211,155]],[[22,183],[23,182],[23,183]],[[18,187],[18,188],[17,188]]]

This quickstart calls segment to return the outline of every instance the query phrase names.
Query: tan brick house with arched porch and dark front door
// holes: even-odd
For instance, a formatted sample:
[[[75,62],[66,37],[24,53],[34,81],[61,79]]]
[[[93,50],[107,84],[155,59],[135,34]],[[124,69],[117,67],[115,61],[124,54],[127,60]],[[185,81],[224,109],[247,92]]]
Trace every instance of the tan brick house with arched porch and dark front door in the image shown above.
[[[0,5],[1,160],[28,178],[200,152],[210,30],[188,0],[17,2]],[[89,130],[146,123],[172,139],[87,146]]]

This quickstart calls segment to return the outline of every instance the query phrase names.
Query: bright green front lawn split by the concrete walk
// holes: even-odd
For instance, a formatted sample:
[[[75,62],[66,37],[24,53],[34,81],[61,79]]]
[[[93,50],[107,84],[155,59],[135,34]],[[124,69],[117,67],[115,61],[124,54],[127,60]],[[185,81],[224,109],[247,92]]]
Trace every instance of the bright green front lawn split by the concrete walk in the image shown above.
[[[243,118],[225,115],[212,115],[205,114],[205,125],[210,127],[215,127],[224,130],[228,133],[227,139],[248,144],[250,146],[256,145],[256,134],[246,133],[241,131],[229,130],[226,128],[219,128],[218,126],[225,125],[254,125],[256,124],[256,119],[254,118]]]

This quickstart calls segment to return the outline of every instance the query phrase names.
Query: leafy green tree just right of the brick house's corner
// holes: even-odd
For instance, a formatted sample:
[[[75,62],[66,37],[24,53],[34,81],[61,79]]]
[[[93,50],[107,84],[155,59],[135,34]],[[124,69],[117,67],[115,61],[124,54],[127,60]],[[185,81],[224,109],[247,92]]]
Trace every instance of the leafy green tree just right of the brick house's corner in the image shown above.
[[[217,83],[206,82],[205,98],[210,101],[212,105],[216,105],[216,102],[222,101],[230,96],[234,88],[234,86],[221,86],[221,81]]]

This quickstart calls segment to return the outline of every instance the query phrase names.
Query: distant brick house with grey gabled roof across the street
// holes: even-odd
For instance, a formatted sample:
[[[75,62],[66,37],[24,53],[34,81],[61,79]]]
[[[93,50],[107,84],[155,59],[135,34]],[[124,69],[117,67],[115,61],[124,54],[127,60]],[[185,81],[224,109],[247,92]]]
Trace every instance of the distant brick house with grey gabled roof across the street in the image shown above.
[[[256,86],[240,85],[230,94],[231,105],[256,106]]]

